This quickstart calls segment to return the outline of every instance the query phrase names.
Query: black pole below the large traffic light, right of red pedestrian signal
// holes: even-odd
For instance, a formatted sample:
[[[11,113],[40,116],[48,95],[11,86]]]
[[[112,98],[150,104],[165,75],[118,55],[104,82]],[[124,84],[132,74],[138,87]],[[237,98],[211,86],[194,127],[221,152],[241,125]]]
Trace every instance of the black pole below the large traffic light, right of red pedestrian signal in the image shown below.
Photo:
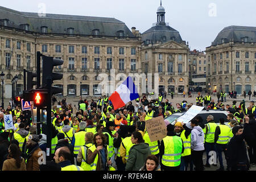
[[[51,160],[51,142],[52,142],[52,122],[51,122],[51,108],[52,108],[52,102],[51,102],[51,98],[52,98],[52,78],[51,77],[47,77],[46,80],[46,87],[49,93],[49,96],[47,98],[48,102],[47,102],[47,107],[46,107],[46,111],[47,111],[47,117],[46,117],[46,127],[47,127],[47,140],[46,140],[46,160]]]

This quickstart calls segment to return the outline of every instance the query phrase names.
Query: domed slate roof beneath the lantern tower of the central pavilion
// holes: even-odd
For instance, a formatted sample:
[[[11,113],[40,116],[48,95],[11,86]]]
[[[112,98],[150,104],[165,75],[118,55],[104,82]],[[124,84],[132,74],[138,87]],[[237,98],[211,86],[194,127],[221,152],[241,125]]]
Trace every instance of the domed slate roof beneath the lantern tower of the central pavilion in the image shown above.
[[[158,41],[167,42],[169,40],[174,40],[177,43],[183,42],[183,40],[181,39],[180,33],[177,30],[175,30],[170,26],[159,25],[159,24],[143,32],[143,34],[141,35],[141,38],[145,44],[147,44],[146,40],[150,40],[151,43],[156,43]]]

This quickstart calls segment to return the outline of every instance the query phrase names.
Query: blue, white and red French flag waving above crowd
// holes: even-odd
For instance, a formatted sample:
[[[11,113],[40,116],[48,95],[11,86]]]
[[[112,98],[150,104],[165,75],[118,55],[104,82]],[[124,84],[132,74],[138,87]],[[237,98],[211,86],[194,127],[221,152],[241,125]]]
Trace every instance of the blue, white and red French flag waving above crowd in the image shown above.
[[[128,76],[126,80],[118,86],[114,93],[109,97],[112,101],[114,110],[123,107],[129,101],[139,98],[138,90],[133,82],[133,78]]]

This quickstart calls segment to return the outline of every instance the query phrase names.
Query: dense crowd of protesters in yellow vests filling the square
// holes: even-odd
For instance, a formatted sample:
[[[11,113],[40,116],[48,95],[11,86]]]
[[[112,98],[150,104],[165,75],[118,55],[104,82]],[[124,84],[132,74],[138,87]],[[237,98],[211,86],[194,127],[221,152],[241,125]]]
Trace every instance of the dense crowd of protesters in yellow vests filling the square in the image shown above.
[[[1,107],[0,169],[202,171],[211,166],[209,152],[215,151],[220,163],[219,171],[246,171],[256,164],[254,102],[251,101],[249,107],[245,107],[245,100],[239,105],[236,101],[225,105],[226,96],[225,92],[221,92],[218,100],[214,101],[209,94],[203,97],[199,92],[195,100],[195,105],[205,109],[229,111],[227,118],[220,118],[219,125],[212,115],[208,115],[207,121],[197,116],[191,122],[175,122],[175,125],[165,119],[167,136],[157,141],[150,140],[145,121],[185,112],[193,103],[183,100],[173,105],[164,92],[154,100],[148,100],[143,95],[135,100],[134,105],[129,102],[117,110],[113,109],[112,102],[106,96],[95,101],[80,97],[77,107],[68,104],[65,98],[55,105],[56,100],[53,99],[52,160],[47,164],[39,162],[41,151],[47,151],[47,136],[42,130],[41,133],[36,132],[31,111],[22,111],[19,106],[13,105],[8,105],[6,109]],[[4,114],[13,115],[13,130],[5,130]],[[225,121],[229,125],[225,125]],[[207,154],[206,164],[203,164],[204,152]]]

